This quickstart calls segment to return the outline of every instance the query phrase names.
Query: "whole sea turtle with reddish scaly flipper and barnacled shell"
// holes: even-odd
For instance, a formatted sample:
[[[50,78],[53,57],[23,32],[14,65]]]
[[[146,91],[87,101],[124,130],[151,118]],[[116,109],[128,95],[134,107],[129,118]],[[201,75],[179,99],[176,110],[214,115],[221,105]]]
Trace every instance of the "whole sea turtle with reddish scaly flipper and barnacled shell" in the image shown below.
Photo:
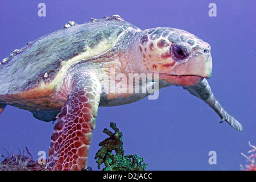
[[[98,106],[129,104],[170,85],[183,86],[221,122],[242,130],[213,96],[205,79],[211,75],[209,44],[187,31],[142,31],[118,15],[69,22],[1,61],[0,113],[11,105],[42,121],[57,119],[47,168],[80,170],[87,163]]]

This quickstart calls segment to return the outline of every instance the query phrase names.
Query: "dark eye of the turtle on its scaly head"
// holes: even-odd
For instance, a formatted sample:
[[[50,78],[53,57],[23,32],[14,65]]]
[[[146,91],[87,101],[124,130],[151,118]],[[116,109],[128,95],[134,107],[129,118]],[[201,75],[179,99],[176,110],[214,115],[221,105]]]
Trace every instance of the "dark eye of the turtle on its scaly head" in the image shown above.
[[[186,59],[189,56],[188,49],[183,45],[172,44],[170,51],[175,61]]]

